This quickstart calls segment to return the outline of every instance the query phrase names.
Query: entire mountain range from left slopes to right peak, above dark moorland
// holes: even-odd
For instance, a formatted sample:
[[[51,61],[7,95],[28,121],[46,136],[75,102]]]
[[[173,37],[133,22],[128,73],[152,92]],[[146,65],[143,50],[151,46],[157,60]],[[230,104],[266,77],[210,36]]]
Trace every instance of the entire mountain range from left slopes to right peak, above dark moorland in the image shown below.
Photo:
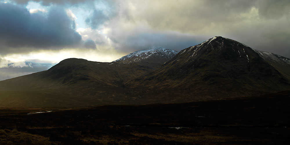
[[[180,52],[140,50],[110,63],[65,59],[0,81],[2,106],[180,103],[290,90],[290,59],[216,36]]]

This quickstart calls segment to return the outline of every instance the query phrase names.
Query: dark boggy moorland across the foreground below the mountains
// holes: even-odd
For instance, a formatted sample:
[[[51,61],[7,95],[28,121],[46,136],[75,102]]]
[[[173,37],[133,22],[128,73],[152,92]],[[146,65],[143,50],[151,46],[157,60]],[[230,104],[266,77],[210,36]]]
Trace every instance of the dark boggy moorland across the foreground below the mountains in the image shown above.
[[[289,144],[290,91],[181,104],[0,109],[0,144]],[[37,111],[52,111],[35,113]]]

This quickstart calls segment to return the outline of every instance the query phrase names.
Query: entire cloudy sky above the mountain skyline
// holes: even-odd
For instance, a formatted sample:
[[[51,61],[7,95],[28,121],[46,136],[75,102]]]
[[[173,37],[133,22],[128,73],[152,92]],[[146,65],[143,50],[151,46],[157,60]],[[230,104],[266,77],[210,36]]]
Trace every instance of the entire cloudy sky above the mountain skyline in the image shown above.
[[[214,36],[290,58],[289,0],[0,0],[0,80]]]

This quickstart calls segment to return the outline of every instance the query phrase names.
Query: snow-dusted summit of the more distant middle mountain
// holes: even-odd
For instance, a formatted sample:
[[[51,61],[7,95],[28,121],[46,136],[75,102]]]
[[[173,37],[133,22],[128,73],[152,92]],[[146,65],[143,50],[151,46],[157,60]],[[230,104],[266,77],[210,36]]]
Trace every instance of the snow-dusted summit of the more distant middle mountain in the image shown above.
[[[177,53],[178,52],[175,50],[160,47],[160,48],[154,48],[154,49],[135,51],[113,62],[130,63],[130,62],[138,62],[144,59],[154,58],[154,57],[159,57],[161,59],[171,59]]]

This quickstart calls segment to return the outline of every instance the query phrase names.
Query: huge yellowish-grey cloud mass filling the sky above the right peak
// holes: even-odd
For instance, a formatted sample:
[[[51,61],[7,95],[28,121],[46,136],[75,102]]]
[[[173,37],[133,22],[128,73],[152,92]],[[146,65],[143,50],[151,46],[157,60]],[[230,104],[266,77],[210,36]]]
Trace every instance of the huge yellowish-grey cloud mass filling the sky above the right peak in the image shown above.
[[[201,39],[223,36],[290,57],[287,0],[128,0],[115,5],[118,13],[98,25],[108,30],[106,36],[122,51],[152,46],[180,50]],[[95,18],[102,16],[94,14]]]

